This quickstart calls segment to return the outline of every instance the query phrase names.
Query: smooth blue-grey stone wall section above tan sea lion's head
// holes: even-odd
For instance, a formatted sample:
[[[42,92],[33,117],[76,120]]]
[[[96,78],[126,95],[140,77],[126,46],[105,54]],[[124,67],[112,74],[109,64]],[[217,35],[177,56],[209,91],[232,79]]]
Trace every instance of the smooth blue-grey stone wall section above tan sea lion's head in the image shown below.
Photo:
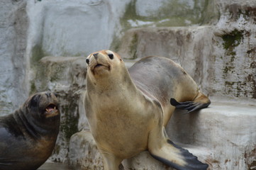
[[[126,1],[30,1],[29,16],[35,23],[30,25],[31,57],[33,50],[41,55],[86,56],[109,48]]]

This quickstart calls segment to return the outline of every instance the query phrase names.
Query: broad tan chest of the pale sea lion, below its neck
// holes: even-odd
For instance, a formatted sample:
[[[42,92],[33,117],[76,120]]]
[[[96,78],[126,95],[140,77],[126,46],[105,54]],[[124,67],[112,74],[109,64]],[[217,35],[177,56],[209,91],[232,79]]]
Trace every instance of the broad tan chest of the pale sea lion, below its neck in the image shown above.
[[[91,103],[89,124],[100,147],[128,155],[147,147],[157,108],[145,96],[119,91],[119,95],[91,96],[87,102]]]

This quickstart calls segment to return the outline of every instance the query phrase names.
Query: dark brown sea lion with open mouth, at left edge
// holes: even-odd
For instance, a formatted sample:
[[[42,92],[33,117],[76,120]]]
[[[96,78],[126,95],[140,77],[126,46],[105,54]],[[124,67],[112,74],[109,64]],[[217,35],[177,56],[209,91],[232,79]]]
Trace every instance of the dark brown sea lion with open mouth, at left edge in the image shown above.
[[[60,127],[58,108],[55,94],[41,92],[0,117],[0,170],[38,169],[50,157]]]

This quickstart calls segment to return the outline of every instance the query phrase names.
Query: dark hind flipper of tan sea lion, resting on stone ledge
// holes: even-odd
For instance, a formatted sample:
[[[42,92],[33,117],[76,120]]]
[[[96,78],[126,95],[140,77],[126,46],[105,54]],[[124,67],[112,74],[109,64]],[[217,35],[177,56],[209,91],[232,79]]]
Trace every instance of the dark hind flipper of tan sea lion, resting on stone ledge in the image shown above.
[[[187,110],[188,113],[192,111],[199,110],[201,108],[207,108],[211,102],[208,103],[199,103],[195,101],[185,101],[185,102],[177,102],[174,98],[171,98],[171,104],[172,106],[175,106],[176,108]]]

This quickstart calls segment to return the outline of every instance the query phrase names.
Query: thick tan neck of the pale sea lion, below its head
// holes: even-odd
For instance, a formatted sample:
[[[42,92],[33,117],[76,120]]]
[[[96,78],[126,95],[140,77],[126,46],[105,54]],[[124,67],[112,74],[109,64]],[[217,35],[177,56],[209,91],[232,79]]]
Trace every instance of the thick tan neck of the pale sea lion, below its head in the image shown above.
[[[88,78],[88,77],[87,77]],[[87,79],[87,96],[95,108],[118,108],[123,107],[130,101],[134,104],[135,98],[141,98],[143,94],[137,89],[127,69],[102,77],[96,81]],[[106,103],[101,105],[101,103]]]

